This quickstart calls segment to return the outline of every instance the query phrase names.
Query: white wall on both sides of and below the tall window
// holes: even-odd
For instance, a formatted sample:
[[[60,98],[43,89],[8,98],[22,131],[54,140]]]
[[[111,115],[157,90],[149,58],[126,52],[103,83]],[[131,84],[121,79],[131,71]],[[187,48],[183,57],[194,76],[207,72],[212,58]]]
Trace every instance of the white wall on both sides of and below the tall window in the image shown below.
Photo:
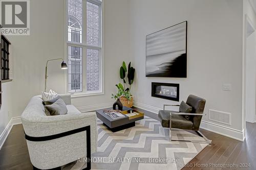
[[[114,103],[111,93],[116,92],[115,84],[120,81],[119,68],[122,61],[129,58],[127,11],[121,8],[127,6],[127,1],[105,2],[104,94],[73,98],[72,103],[81,109]],[[30,36],[8,36],[12,42],[13,57],[12,117],[20,116],[31,97],[44,90],[46,61],[65,57],[66,49],[63,44],[65,1],[32,0],[30,3]],[[52,88],[58,93],[63,93],[66,84],[60,63],[61,61],[49,63],[48,90]]]

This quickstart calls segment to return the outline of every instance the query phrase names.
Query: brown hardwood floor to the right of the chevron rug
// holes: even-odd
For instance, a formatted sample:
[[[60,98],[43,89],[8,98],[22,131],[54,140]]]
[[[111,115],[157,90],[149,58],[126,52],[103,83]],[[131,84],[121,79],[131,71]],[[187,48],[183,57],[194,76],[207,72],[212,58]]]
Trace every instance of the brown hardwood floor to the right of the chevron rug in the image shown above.
[[[200,130],[212,144],[200,152],[185,169],[256,169],[256,124],[246,123],[246,140],[234,140]],[[205,166],[211,167],[205,167]],[[213,167],[213,166],[216,167]],[[221,165],[226,165],[223,167]],[[227,167],[232,165],[233,167]],[[236,167],[234,167],[236,166]]]

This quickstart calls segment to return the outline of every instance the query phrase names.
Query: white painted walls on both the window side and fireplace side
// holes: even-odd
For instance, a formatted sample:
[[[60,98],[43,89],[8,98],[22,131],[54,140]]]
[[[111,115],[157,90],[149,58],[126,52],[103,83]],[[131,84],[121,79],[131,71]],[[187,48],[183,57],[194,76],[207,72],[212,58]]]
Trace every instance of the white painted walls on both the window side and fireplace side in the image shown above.
[[[64,2],[32,0],[31,35],[8,37],[13,57],[11,117],[20,116],[30,98],[44,89],[45,62],[65,57]],[[199,95],[207,100],[206,114],[208,109],[232,114],[231,126],[212,123],[238,132],[243,130],[240,0],[161,0],[161,3],[108,0],[104,13],[104,94],[73,98],[76,107],[113,103],[111,93],[116,91],[119,67],[125,60],[132,61],[136,68],[133,91],[137,103],[155,108],[162,108],[165,103],[177,104],[152,98],[151,82],[180,83],[180,101],[186,100],[188,94]],[[146,78],[145,36],[185,20],[188,21],[187,78]],[[59,62],[50,63],[49,68],[48,87],[64,92],[66,84]],[[232,84],[232,91],[223,91],[223,83]],[[210,122],[208,115],[204,121]]]

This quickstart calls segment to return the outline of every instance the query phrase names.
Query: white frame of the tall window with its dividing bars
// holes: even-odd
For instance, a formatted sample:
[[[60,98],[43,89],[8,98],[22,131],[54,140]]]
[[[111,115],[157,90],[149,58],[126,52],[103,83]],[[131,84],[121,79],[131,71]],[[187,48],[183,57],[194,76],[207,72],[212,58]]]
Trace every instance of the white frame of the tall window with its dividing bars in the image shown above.
[[[99,45],[90,45],[87,44],[87,2],[96,4],[99,6]],[[68,61],[68,46],[77,46],[82,47],[82,91],[81,92],[69,92],[69,74],[65,71],[65,92],[70,93],[72,98],[80,96],[89,96],[89,95],[99,95],[104,94],[104,48],[103,48],[103,15],[104,12],[104,1],[102,0],[82,0],[82,43],[68,41],[68,0],[64,5],[64,30],[65,30],[65,42],[64,42],[64,55],[65,60]],[[99,90],[97,91],[87,91],[87,49],[99,50]]]

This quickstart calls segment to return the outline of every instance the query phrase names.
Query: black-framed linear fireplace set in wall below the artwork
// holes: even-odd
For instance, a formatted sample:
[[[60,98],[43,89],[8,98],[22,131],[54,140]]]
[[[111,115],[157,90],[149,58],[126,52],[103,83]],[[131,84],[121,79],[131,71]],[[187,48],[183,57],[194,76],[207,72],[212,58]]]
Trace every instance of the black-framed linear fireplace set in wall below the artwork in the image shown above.
[[[172,101],[180,100],[180,84],[152,82],[151,95]]]

